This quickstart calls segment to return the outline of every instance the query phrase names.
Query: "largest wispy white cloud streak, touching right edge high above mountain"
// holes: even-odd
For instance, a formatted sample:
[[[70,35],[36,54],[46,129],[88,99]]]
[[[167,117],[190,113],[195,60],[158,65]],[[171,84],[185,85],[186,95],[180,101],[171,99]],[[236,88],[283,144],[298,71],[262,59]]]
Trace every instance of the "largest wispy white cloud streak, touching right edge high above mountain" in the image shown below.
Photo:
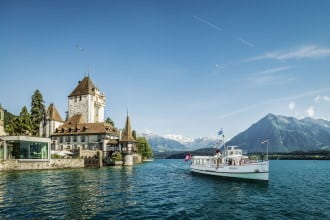
[[[322,48],[315,45],[302,46],[292,50],[273,51],[265,53],[250,59],[247,62],[257,60],[289,60],[289,59],[304,59],[304,58],[320,58],[330,56],[330,48]]]

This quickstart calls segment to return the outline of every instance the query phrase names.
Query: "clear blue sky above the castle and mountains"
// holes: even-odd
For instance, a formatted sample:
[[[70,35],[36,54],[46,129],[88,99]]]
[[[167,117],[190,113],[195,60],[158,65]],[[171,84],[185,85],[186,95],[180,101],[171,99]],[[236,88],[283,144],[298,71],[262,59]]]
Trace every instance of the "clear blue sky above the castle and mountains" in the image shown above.
[[[330,119],[330,1],[0,0],[0,103],[65,117],[88,73],[105,116],[230,138],[268,113]]]

